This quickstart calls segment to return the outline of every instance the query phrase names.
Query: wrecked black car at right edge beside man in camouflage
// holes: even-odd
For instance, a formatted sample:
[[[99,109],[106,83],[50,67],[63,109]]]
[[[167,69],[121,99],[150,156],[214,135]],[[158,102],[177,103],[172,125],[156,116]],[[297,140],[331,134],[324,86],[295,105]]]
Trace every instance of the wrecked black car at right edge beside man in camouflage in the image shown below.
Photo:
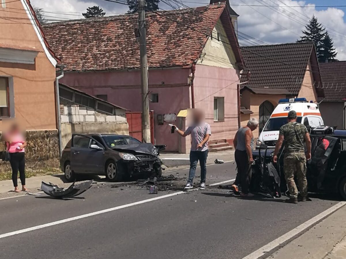
[[[346,130],[334,130],[328,126],[319,126],[310,132],[312,143],[311,159],[307,162],[307,181],[309,192],[333,192],[339,193],[346,200]],[[273,149],[254,151],[253,174],[262,172],[262,175],[268,174],[268,168],[271,168]],[[261,156],[260,156],[261,154]],[[283,171],[282,149],[278,154],[278,163],[274,164],[280,179],[271,183],[280,183],[281,191],[287,190]],[[258,163],[261,161],[262,163]],[[264,162],[264,163],[263,163]],[[268,165],[270,165],[268,167]],[[264,172],[264,174],[263,174]],[[255,178],[256,179],[256,178]],[[256,181],[254,179],[254,181]],[[257,178],[258,179],[258,178]],[[260,181],[258,181],[260,182]],[[254,186],[257,183],[252,183]],[[298,186],[298,185],[297,185]],[[266,186],[268,187],[268,186]],[[275,186],[269,186],[274,190]],[[268,190],[269,190],[268,189]]]

